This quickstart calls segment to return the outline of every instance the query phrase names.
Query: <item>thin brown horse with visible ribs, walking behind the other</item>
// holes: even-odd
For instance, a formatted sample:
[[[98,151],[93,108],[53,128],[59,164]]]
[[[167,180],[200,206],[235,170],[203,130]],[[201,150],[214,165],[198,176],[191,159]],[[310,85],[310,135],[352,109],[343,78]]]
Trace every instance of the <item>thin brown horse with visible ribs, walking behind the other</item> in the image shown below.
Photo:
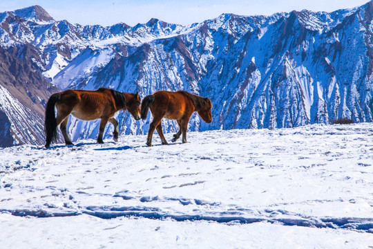
[[[140,120],[140,97],[138,93],[120,93],[113,89],[100,88],[96,91],[68,89],[50,96],[46,106],[46,122],[44,131],[46,133],[46,148],[50,142],[57,140],[57,127],[62,131],[66,145],[73,145],[66,126],[68,116],[73,114],[80,120],[96,120],[101,118],[99,124],[99,136],[97,142],[104,143],[102,135],[107,122],[114,125],[113,138],[118,139],[118,122],[113,118],[114,114],[123,109],[128,110],[135,120]],[[55,116],[57,108],[57,118]]]

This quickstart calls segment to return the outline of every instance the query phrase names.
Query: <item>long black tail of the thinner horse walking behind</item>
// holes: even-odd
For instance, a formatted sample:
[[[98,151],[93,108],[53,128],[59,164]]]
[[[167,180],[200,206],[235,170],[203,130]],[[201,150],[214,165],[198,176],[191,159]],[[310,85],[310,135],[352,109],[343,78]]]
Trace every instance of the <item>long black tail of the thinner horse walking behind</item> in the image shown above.
[[[46,148],[50,142],[57,142],[57,120],[55,116],[55,104],[59,102],[61,95],[55,93],[50,96],[46,106],[46,121],[44,123],[44,133],[46,133]]]

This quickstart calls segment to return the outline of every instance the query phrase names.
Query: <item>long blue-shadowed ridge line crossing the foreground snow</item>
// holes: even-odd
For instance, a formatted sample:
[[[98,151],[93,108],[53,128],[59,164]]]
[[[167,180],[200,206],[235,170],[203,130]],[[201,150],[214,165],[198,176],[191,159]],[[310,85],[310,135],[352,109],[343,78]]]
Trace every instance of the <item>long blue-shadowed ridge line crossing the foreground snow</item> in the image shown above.
[[[329,218],[329,217],[308,217],[300,214],[289,214],[284,210],[265,210],[267,216],[261,215],[260,218],[255,218],[251,215],[245,215],[249,210],[233,211],[224,213],[209,213],[208,215],[200,214],[166,214],[158,211],[156,208],[147,207],[94,207],[88,206],[82,212],[48,212],[46,210],[0,210],[3,213],[10,213],[14,216],[34,216],[37,218],[52,218],[52,217],[66,217],[78,216],[88,214],[101,219],[115,219],[117,217],[140,217],[146,219],[159,219],[164,221],[172,219],[173,221],[214,221],[217,223],[226,223],[227,225],[251,224],[257,222],[276,223],[280,225],[297,225],[307,228],[332,228],[332,229],[347,229],[356,230],[359,232],[373,233],[373,219],[370,218]],[[233,215],[229,215],[229,214]],[[236,215],[234,215],[236,214]],[[278,215],[283,214],[283,215]],[[251,217],[250,217],[251,216]],[[280,217],[279,217],[280,216]],[[283,217],[281,217],[283,216]]]

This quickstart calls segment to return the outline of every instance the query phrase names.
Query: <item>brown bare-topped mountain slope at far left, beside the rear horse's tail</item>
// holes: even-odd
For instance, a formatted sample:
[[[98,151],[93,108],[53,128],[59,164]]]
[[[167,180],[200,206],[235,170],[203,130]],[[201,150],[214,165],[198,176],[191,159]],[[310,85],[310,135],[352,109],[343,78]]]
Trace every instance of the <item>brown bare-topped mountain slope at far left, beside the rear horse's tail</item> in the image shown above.
[[[33,66],[34,52],[28,46],[12,53],[0,47],[0,147],[44,142],[44,104],[58,89]]]

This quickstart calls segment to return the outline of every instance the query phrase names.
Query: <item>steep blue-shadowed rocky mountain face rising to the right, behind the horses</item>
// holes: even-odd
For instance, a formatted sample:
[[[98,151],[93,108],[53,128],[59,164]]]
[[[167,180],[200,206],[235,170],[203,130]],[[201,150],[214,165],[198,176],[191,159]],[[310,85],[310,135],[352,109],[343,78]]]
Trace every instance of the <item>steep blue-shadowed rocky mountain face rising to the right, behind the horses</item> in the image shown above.
[[[370,2],[332,13],[222,15],[127,48],[88,75],[75,73],[70,87],[208,96],[214,120],[195,120],[192,130],[297,127],[341,117],[371,122],[372,12]]]

